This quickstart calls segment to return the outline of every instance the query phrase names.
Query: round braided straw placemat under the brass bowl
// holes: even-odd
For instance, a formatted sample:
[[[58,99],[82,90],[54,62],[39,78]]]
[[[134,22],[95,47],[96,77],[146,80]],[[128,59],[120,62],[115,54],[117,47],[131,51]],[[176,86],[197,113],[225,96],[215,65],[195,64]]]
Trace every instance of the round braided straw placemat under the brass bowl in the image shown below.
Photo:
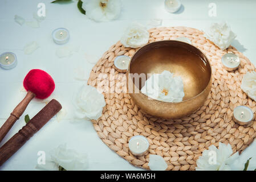
[[[128,140],[134,135],[147,137],[149,154],[161,155],[168,164],[167,170],[194,170],[202,151],[212,144],[218,147],[218,142],[230,143],[234,152],[244,150],[255,137],[256,122],[250,127],[239,126],[232,120],[232,115],[238,105],[247,105],[253,112],[256,110],[256,102],[240,88],[243,75],[254,71],[254,65],[234,47],[222,51],[206,40],[203,32],[194,28],[161,27],[149,32],[149,42],[185,36],[208,56],[213,74],[208,100],[186,118],[164,120],[143,114],[129,94],[118,90],[104,93],[106,106],[103,115],[92,121],[101,140],[128,162],[146,169],[149,169],[149,155],[133,156],[128,149]],[[88,84],[104,87],[109,81],[109,87],[113,84],[124,86],[125,82],[114,77],[119,73],[113,69],[113,60],[119,55],[132,56],[135,51],[125,48],[120,42],[111,46],[92,68]],[[234,72],[227,72],[222,67],[221,57],[227,52],[233,52],[241,59]],[[101,73],[108,78],[99,78]]]

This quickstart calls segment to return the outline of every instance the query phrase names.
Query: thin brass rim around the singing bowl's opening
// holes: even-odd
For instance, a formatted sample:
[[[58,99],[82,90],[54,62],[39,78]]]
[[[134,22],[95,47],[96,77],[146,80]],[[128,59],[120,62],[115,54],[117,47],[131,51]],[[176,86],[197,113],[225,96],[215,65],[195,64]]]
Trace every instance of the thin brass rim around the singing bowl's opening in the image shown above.
[[[148,44],[146,44],[146,45],[140,47],[140,48],[137,49],[137,51],[133,54],[133,56],[135,56],[136,53],[140,51],[140,49],[142,49],[142,48],[148,46],[149,44],[159,43],[159,42],[178,42],[178,43],[181,43],[181,44],[182,44],[182,43],[183,43],[183,44],[188,44],[188,43],[186,43],[186,42],[181,42],[181,41],[178,41],[178,40],[159,40],[159,41],[155,41],[155,42],[148,43]],[[193,46],[192,44],[188,44],[188,45],[189,45],[189,46]],[[193,47],[196,48],[196,49],[198,49],[198,48],[195,47],[195,46],[193,46]],[[208,59],[208,57],[205,55],[205,53],[202,52],[200,49],[198,49],[198,51],[200,51],[200,52],[202,53],[202,55],[204,55],[204,56],[206,57],[206,61],[207,61],[208,64],[210,65],[209,59]],[[131,66],[131,63],[132,63],[133,56],[131,57],[131,60],[130,60],[129,65],[128,65],[128,71],[127,71],[128,76],[129,76],[129,73],[130,73],[130,66]],[[151,100],[154,100],[154,101],[156,101],[156,102],[163,103],[163,104],[176,105],[176,104],[178,104],[178,103],[187,102],[187,101],[193,100],[194,98],[197,98],[197,97],[201,96],[201,94],[203,94],[203,93],[205,92],[206,88],[208,88],[208,85],[211,84],[211,81],[212,81],[212,65],[210,65],[210,79],[209,79],[208,84],[205,86],[205,89],[202,90],[202,92],[200,92],[200,93],[197,94],[196,96],[194,96],[194,97],[192,97],[192,98],[189,98],[189,99],[187,99],[187,100],[181,101],[181,102],[164,102],[164,101],[155,100],[154,98],[151,98],[151,97],[147,96],[146,94],[142,93],[142,92],[140,91],[140,89],[137,88],[136,85],[134,85],[133,81],[132,81],[132,85],[134,85],[134,86],[139,90],[139,93],[140,93],[140,94],[143,94],[145,97],[151,98]]]

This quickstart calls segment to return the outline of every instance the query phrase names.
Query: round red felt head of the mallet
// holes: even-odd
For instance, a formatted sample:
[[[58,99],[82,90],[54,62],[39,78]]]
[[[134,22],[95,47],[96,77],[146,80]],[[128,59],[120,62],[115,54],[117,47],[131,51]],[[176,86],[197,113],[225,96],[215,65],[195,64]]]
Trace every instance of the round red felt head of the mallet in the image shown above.
[[[41,69],[31,69],[23,81],[23,86],[27,91],[35,94],[36,98],[44,99],[51,95],[55,89],[52,77]]]

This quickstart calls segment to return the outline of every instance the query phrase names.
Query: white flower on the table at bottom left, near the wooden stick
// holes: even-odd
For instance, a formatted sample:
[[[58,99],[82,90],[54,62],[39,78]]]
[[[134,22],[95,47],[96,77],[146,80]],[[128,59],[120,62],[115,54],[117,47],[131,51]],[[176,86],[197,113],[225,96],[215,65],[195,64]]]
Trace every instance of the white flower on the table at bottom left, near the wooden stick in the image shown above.
[[[61,166],[67,171],[82,171],[88,167],[87,155],[67,149],[66,144],[62,144],[52,150],[50,156],[51,158],[46,160],[46,164],[38,164],[36,168],[58,171]]]

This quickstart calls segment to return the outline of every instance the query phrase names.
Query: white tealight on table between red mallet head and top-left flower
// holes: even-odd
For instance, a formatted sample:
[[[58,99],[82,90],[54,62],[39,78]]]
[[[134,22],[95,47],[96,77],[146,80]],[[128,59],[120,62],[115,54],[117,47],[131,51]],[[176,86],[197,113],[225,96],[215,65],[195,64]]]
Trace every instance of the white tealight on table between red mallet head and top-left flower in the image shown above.
[[[56,44],[65,44],[70,40],[70,32],[66,28],[57,28],[52,32],[52,39]]]

